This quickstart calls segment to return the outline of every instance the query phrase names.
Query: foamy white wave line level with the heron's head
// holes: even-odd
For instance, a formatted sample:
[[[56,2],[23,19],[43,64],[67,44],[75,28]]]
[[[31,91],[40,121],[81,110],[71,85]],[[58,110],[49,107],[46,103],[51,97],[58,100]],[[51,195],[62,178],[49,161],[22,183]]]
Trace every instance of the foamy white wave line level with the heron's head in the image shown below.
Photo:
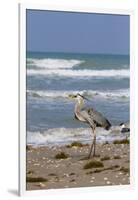
[[[69,95],[80,93],[81,95],[87,96],[89,98],[99,97],[108,99],[128,99],[129,89],[120,89],[114,91],[94,91],[94,90],[82,90],[82,91],[57,91],[57,90],[47,90],[47,91],[34,91],[27,90],[28,96],[39,97],[39,98],[68,98]]]

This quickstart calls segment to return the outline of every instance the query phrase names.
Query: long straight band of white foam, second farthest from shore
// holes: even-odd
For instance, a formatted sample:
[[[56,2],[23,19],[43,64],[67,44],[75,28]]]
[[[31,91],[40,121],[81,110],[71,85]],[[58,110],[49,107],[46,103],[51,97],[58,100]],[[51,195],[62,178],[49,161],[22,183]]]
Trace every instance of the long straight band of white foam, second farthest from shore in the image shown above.
[[[50,70],[27,70],[28,75],[42,75],[42,76],[64,76],[64,77],[129,77],[130,72],[128,69],[120,70],[71,70],[71,69],[50,69]]]

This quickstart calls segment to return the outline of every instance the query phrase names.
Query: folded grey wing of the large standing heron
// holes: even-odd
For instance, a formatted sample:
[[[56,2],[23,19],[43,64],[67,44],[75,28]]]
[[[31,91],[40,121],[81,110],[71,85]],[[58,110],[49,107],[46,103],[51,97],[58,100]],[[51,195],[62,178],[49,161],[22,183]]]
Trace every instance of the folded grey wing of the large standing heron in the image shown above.
[[[110,122],[98,111],[93,108],[84,108],[82,111],[83,115],[87,116],[87,118],[93,121],[97,126],[104,127],[105,129],[109,129],[111,127]]]

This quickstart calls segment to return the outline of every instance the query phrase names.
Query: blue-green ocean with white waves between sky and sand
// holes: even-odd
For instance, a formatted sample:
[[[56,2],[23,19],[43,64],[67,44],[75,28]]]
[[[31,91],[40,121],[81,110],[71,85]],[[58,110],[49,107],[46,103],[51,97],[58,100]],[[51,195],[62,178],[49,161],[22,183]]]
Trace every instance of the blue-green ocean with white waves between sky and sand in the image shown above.
[[[129,121],[129,56],[27,52],[27,143],[62,145],[91,142],[87,124],[74,119],[80,93],[103,113],[110,131],[97,128],[99,142],[124,137],[119,124]]]

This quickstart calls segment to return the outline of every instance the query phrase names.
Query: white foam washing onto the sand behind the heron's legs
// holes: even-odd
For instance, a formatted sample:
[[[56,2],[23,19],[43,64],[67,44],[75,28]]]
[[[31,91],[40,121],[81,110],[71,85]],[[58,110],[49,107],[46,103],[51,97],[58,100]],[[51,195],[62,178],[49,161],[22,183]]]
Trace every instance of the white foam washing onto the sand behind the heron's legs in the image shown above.
[[[106,131],[103,128],[96,128],[97,142],[113,141],[124,137],[120,127],[114,126]],[[43,132],[27,132],[27,144],[32,145],[63,145],[74,141],[91,143],[90,128],[53,128]]]

